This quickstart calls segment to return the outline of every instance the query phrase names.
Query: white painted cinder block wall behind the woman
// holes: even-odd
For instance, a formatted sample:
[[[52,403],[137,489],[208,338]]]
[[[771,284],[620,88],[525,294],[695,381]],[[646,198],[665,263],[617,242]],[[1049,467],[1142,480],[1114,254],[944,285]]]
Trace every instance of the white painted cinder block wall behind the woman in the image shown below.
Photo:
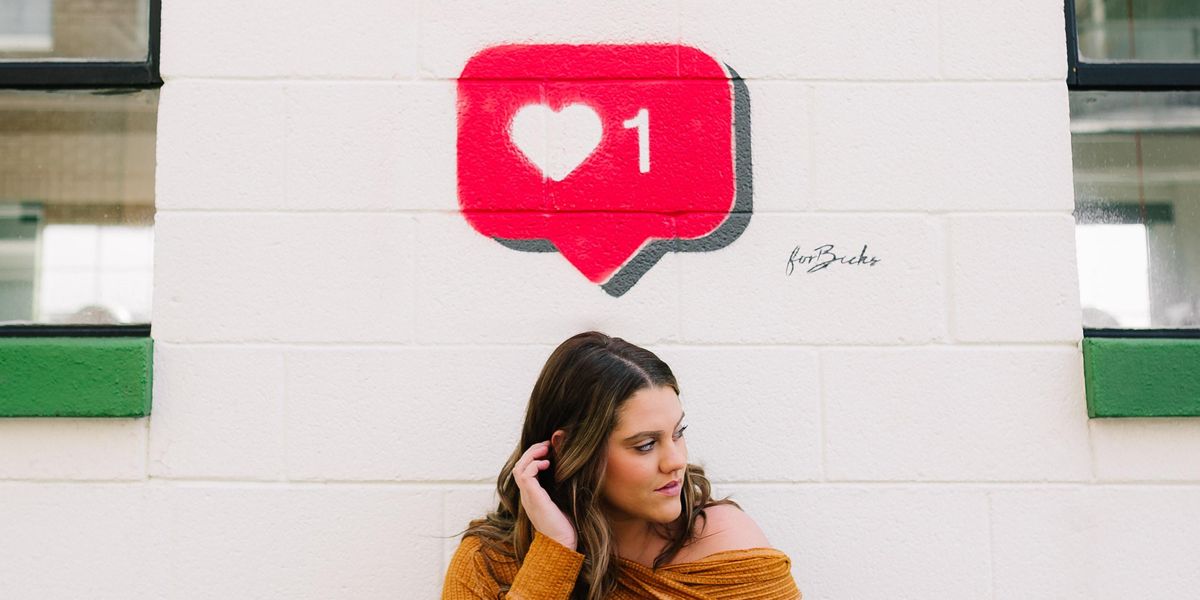
[[[0,596],[437,598],[592,328],[805,598],[1200,588],[1200,422],[1086,418],[1061,2],[164,4],[154,412],[0,422]],[[733,66],[745,233],[612,298],[473,230],[454,79],[529,42]],[[882,262],[785,275],[826,242]]]

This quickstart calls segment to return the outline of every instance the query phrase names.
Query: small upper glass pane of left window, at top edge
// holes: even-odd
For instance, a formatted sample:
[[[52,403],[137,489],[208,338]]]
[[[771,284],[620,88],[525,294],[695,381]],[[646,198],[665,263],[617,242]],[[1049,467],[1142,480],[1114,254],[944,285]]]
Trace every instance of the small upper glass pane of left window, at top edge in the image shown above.
[[[140,61],[150,0],[0,0],[0,61]]]

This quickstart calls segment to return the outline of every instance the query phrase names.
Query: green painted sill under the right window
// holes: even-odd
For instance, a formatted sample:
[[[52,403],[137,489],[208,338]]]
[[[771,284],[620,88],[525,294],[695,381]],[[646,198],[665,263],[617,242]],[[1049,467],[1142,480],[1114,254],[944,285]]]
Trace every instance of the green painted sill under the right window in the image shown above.
[[[1200,416],[1200,340],[1084,338],[1088,416]]]

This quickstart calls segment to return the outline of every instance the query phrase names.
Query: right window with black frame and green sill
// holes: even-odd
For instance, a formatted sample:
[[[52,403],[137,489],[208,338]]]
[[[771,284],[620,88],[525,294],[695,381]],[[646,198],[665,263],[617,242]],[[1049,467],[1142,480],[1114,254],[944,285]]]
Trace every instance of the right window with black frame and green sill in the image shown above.
[[[1067,54],[1088,410],[1200,415],[1200,2],[1067,0]]]

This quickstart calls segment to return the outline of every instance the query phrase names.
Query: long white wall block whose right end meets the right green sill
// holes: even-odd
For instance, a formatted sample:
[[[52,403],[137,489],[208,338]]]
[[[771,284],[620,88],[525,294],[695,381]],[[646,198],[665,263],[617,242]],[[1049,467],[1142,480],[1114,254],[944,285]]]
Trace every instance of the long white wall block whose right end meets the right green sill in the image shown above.
[[[1091,479],[1075,348],[824,350],[821,372],[830,479]]]

